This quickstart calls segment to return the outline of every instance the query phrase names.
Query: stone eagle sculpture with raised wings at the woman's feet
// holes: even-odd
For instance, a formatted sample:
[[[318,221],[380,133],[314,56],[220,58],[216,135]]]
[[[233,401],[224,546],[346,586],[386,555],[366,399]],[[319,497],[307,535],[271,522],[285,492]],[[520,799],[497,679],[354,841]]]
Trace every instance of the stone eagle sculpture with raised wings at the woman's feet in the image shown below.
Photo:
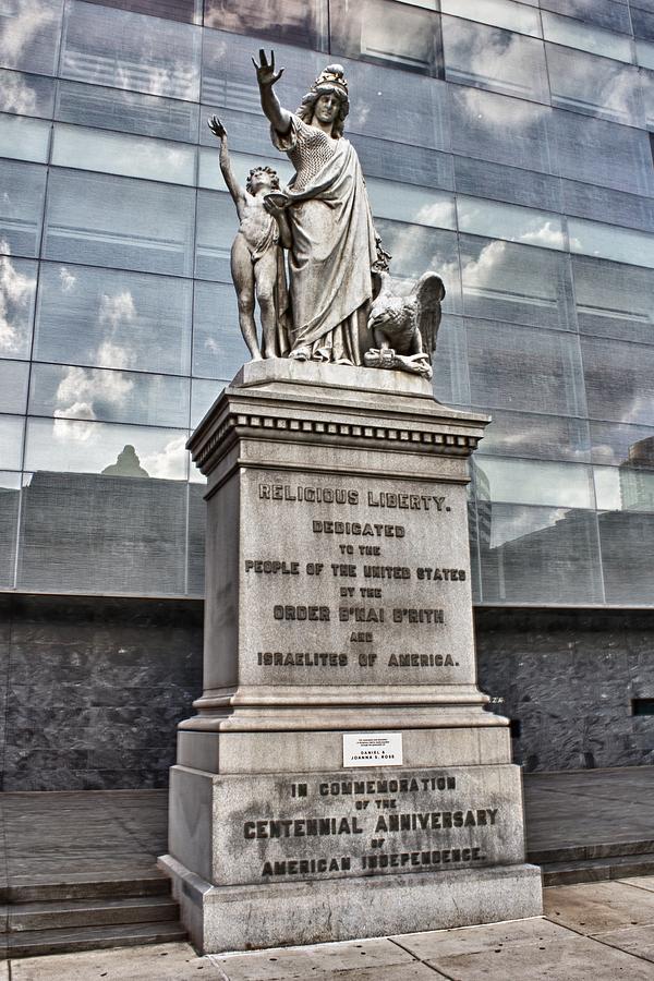
[[[408,296],[396,296],[388,289],[389,277],[368,316],[368,328],[376,348],[363,355],[367,367],[396,368],[431,378],[432,354],[440,325],[440,302],[445,287],[436,272],[425,272]]]

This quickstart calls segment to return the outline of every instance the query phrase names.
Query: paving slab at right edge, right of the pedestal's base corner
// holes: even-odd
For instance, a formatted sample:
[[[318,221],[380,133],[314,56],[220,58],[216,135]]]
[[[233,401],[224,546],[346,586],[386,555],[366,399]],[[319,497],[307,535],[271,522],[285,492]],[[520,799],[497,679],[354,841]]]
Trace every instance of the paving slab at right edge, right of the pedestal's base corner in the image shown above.
[[[654,923],[654,892],[623,882],[590,882],[543,889],[545,916],[586,935]]]

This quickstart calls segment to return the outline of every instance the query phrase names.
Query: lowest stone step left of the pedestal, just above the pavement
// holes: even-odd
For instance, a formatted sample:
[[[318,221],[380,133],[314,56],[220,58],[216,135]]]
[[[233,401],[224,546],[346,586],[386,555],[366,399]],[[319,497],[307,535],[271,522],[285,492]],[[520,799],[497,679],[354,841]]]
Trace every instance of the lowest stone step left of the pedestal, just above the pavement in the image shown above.
[[[37,957],[72,954],[106,947],[136,947],[186,940],[181,923],[135,923],[114,927],[80,927],[69,930],[35,930],[10,933],[2,943],[5,957]]]

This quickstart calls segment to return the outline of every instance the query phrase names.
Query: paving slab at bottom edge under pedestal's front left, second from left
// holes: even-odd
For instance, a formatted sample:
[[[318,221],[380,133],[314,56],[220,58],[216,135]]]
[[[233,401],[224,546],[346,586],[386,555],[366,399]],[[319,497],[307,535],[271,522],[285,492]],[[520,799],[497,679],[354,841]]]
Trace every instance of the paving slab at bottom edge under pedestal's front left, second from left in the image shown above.
[[[310,976],[319,977],[319,973],[350,970],[361,973],[391,967],[396,970],[396,977],[400,972],[403,977],[404,967],[415,964],[410,953],[386,937],[306,947],[277,947],[226,957],[213,954],[210,958],[225,971],[229,981],[304,981]]]

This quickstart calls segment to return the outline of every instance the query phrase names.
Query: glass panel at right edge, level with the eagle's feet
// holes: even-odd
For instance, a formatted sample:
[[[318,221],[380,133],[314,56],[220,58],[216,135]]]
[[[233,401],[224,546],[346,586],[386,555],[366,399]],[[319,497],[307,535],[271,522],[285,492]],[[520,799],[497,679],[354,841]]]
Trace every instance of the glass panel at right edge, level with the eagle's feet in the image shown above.
[[[582,338],[589,415],[654,425],[654,348]]]

